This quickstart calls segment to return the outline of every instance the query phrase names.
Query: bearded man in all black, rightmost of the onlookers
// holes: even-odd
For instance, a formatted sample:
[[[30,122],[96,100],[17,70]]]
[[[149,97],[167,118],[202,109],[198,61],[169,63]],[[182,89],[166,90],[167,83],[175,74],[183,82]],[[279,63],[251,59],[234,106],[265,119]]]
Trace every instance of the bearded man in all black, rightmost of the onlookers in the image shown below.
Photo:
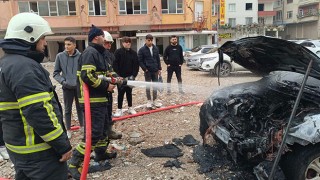
[[[183,50],[178,44],[178,39],[176,35],[170,37],[170,45],[165,49],[163,54],[163,60],[167,65],[167,92],[171,94],[171,79],[173,72],[176,73],[178,79],[179,92],[184,94],[182,90],[182,78],[181,78],[181,66],[183,64]]]

